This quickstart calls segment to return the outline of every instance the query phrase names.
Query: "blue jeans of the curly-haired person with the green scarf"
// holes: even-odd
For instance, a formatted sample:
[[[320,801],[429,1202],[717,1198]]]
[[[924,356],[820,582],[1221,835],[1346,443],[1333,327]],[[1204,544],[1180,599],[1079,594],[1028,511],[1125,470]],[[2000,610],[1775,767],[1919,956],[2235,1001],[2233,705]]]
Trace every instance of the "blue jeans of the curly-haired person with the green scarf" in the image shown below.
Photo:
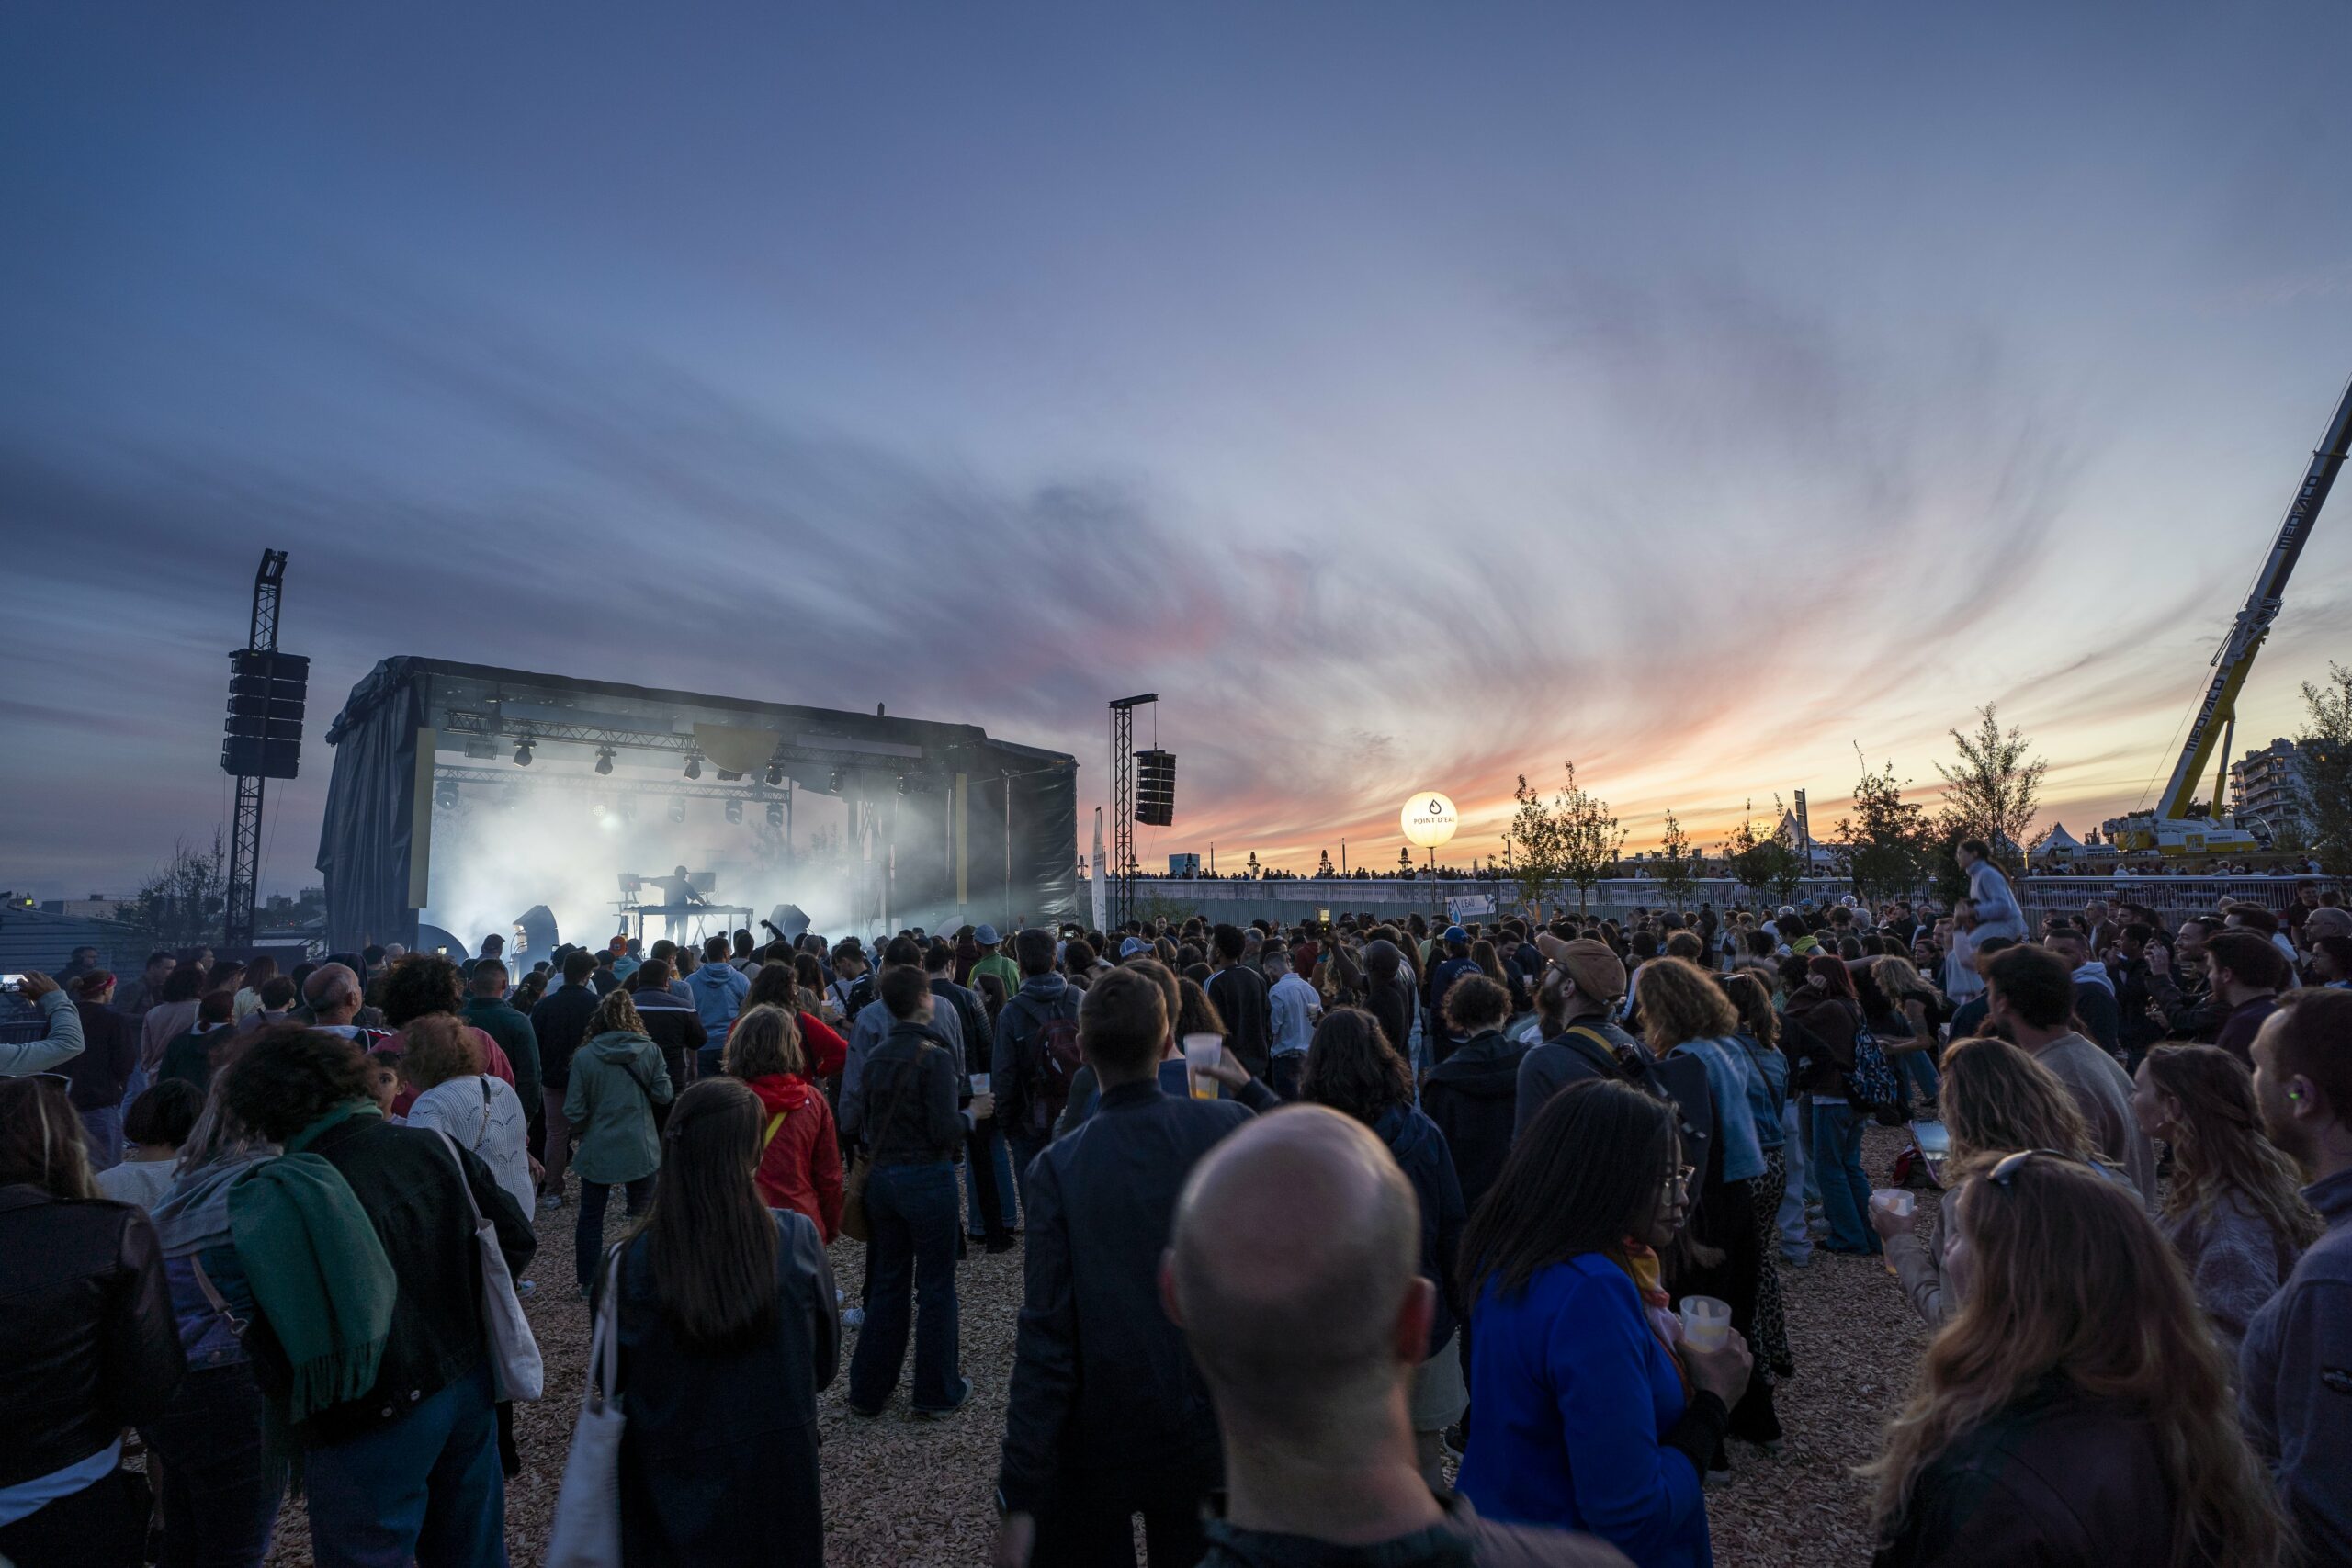
[[[489,1361],[390,1427],[303,1455],[320,1568],[506,1568]]]

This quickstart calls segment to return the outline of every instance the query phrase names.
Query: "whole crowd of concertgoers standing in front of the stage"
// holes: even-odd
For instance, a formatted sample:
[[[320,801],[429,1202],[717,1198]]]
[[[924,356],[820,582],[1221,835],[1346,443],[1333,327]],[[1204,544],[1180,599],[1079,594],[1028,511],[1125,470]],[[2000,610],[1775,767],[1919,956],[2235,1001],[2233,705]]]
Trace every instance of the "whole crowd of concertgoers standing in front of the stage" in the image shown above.
[[[974,1420],[957,1265],[1018,1248],[1000,1568],[1710,1563],[1818,1253],[1933,1331],[1879,1563],[2352,1561],[2352,912],[2030,931],[1962,858],[1950,910],[26,976],[0,1554],[259,1563],[299,1495],[320,1563],[503,1563],[576,1288],[626,1439],[557,1547],[821,1563],[821,1389]]]

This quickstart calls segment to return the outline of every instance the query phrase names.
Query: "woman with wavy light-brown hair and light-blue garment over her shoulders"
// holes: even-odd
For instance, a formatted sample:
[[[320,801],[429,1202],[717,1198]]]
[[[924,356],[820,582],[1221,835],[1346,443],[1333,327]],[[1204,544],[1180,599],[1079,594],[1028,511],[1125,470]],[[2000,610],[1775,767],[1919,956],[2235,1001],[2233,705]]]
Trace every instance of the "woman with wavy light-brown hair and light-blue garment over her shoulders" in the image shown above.
[[[1755,1192],[1764,1175],[1764,1145],[1748,1110],[1757,1070],[1738,1041],[1740,1016],[1708,971],[1689,959],[1644,964],[1635,999],[1651,1056],[1696,1058],[1708,1072],[1708,1098],[1715,1103],[1715,1135],[1708,1140],[1712,1152],[1698,1173],[1698,1201],[1691,1208],[1691,1239],[1703,1251],[1693,1251],[1677,1269],[1675,1291],[1717,1295],[1731,1305],[1731,1328],[1757,1352],[1748,1389],[1731,1406],[1731,1434],[1750,1443],[1778,1443],[1780,1415],[1773,1410],[1771,1373],[1757,1335],[1762,1276],[1771,1267],[1757,1229]]]

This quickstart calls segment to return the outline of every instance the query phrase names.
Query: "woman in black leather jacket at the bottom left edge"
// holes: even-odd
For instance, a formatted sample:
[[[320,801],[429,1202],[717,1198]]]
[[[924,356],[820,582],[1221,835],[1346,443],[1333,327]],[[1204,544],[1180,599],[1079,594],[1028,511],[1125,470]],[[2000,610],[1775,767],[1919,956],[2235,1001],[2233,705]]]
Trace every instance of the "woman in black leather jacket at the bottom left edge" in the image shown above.
[[[122,1429],[162,1415],[186,1371],[155,1229],[89,1175],[54,1077],[0,1079],[0,1559],[146,1561],[146,1495]]]

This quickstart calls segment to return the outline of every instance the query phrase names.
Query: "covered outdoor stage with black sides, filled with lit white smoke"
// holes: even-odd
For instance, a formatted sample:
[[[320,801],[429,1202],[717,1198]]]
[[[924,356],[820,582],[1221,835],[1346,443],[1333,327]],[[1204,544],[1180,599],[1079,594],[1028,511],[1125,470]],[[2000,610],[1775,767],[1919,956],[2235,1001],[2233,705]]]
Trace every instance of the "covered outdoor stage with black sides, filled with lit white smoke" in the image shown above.
[[[976,724],[386,658],[327,743],[334,950],[602,945],[687,903],[652,898],[670,867],[689,926],[762,940],[779,907],[868,938],[1080,912],[1077,759]]]

